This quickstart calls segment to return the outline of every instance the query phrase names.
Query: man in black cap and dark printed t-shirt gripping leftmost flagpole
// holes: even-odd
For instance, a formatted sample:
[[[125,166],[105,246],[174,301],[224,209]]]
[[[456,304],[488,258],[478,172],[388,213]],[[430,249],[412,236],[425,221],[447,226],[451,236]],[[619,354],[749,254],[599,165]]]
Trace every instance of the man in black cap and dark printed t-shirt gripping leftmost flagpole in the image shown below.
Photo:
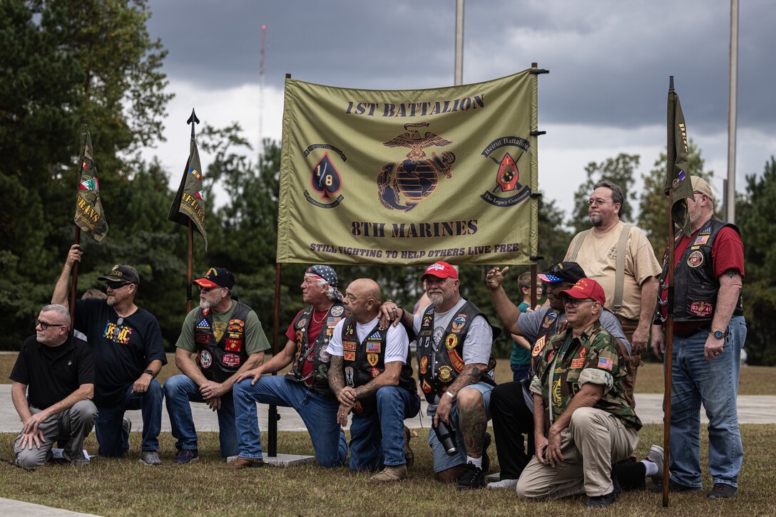
[[[74,244],[54,287],[51,303],[68,306],[68,281],[73,264],[81,260]],[[95,360],[95,398],[99,410],[95,433],[99,455],[120,457],[129,450],[127,409],[143,415],[140,462],[161,465],[159,431],[164,392],[154,379],[167,364],[159,323],[151,312],[134,303],[140,277],[134,267],[118,265],[99,281],[106,282],[106,300],[77,300],[75,329],[88,337]]]

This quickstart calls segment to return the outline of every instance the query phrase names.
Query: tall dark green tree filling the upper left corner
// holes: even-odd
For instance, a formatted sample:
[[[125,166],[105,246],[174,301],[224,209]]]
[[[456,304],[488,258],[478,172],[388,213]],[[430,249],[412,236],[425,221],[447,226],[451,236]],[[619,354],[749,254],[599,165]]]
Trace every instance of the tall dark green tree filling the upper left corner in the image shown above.
[[[137,189],[130,181],[150,174],[134,155],[160,140],[171,97],[149,16],[144,0],[0,2],[0,188],[6,206],[23,207],[7,210],[0,228],[5,346],[31,333],[27,322],[50,299],[72,243],[81,119],[90,122],[110,226],[81,264],[83,282],[99,276],[92,268],[104,274],[104,264],[128,261],[113,254],[127,235],[122,226],[148,223],[127,202]]]

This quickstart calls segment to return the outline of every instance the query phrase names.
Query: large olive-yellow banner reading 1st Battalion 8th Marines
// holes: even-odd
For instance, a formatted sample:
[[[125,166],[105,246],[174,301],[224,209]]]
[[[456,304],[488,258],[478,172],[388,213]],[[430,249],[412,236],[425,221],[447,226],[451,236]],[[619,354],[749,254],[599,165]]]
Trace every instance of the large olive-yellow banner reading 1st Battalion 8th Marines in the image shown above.
[[[536,75],[428,90],[286,80],[280,263],[530,264]]]

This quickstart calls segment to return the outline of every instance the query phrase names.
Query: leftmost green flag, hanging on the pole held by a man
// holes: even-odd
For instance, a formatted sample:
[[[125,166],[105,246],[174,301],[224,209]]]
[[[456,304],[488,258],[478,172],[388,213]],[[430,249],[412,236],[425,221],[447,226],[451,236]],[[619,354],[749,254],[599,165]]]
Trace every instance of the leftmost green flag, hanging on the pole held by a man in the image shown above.
[[[81,160],[78,163],[78,198],[75,200],[75,224],[99,243],[108,233],[108,222],[99,199],[97,166],[89,126],[81,126]]]

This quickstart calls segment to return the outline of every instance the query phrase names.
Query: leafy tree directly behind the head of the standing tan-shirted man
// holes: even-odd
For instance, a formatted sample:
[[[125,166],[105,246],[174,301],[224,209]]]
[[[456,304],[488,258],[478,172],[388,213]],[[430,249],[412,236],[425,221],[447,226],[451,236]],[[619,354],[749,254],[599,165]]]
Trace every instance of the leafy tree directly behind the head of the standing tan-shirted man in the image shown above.
[[[600,164],[592,162],[584,168],[587,180],[580,184],[574,193],[574,209],[571,215],[570,226],[574,233],[590,228],[590,219],[587,217],[587,199],[593,192],[593,187],[599,181],[611,181],[622,188],[625,202],[622,205],[620,219],[632,221],[633,203],[636,201],[636,193],[633,191],[634,174],[639,167],[641,158],[638,154],[619,153],[614,158],[607,158]]]

